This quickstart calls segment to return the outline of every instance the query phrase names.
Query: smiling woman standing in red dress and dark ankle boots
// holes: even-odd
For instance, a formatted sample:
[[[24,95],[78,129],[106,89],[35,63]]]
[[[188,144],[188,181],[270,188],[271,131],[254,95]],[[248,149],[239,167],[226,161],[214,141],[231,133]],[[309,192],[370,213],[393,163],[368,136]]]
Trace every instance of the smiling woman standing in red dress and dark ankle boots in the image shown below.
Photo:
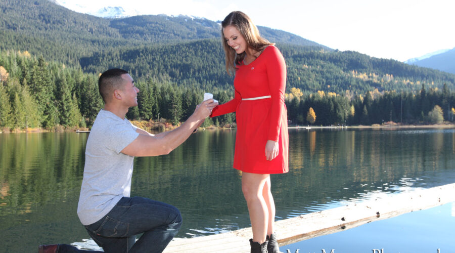
[[[235,96],[215,107],[211,116],[236,112],[234,168],[242,171],[253,229],[251,252],[280,252],[269,175],[288,172],[286,64],[246,14],[231,12],[221,26],[226,70],[235,73]]]

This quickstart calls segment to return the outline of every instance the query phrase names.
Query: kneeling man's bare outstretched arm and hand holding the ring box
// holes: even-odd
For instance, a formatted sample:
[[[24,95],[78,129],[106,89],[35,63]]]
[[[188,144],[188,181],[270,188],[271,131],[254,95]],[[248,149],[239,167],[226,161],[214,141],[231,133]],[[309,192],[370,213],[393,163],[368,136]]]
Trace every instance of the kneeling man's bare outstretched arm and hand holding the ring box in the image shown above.
[[[194,113],[181,124],[178,128],[161,133],[151,135],[147,131],[137,131],[140,135],[121,152],[130,156],[157,156],[168,154],[185,140],[190,137],[193,131],[200,125],[206,117],[210,115],[212,109],[218,103],[213,103],[213,99],[202,102],[194,111]]]

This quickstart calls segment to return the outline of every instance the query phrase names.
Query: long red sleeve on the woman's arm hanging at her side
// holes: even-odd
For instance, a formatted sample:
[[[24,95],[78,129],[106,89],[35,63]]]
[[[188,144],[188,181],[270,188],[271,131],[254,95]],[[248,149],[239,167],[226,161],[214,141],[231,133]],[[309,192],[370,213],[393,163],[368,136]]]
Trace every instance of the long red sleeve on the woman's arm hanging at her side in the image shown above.
[[[270,46],[269,46],[270,47]],[[267,54],[266,69],[271,96],[270,127],[267,140],[278,141],[281,120],[285,112],[286,63],[278,48],[272,47]]]

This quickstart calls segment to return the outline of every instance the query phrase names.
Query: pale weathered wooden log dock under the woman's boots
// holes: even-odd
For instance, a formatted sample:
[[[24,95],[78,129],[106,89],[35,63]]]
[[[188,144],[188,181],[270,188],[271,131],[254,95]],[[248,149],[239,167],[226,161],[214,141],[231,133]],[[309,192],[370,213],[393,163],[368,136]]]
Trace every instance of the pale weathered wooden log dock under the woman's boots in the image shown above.
[[[277,221],[275,227],[278,242],[283,246],[454,201],[455,183],[349,203]],[[169,243],[164,252],[249,252],[249,238],[252,238],[251,228],[195,238],[177,238]]]

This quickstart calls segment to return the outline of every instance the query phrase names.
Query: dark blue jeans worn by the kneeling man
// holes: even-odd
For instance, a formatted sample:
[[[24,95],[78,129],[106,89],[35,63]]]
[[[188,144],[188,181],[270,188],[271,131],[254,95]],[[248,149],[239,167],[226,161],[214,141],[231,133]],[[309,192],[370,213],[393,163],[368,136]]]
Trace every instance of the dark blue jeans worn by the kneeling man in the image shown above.
[[[172,205],[143,197],[123,197],[105,217],[85,229],[107,253],[162,252],[177,234],[181,222],[180,211]],[[144,234],[134,242],[135,235],[141,233]],[[58,250],[80,251],[65,244],[60,244]]]

